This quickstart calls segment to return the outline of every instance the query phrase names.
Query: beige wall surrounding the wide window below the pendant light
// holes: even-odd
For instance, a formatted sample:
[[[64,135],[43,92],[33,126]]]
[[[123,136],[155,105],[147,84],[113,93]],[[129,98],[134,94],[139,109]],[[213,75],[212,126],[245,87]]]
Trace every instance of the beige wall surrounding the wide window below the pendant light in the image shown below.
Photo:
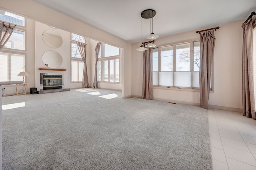
[[[210,93],[209,107],[218,106],[222,109],[242,109],[242,28],[243,21],[221,24],[216,30],[214,61],[213,61],[213,88]],[[216,27],[216,26],[212,26]],[[210,28],[212,28],[210,27]],[[207,29],[207,28],[206,28]],[[196,30],[176,34],[155,41],[157,47],[173,43],[199,40]],[[132,44],[132,95],[142,94],[142,67],[143,52],[136,51],[140,43]],[[184,89],[157,89],[154,88],[155,99],[174,101],[198,105],[199,92],[184,91]]]

